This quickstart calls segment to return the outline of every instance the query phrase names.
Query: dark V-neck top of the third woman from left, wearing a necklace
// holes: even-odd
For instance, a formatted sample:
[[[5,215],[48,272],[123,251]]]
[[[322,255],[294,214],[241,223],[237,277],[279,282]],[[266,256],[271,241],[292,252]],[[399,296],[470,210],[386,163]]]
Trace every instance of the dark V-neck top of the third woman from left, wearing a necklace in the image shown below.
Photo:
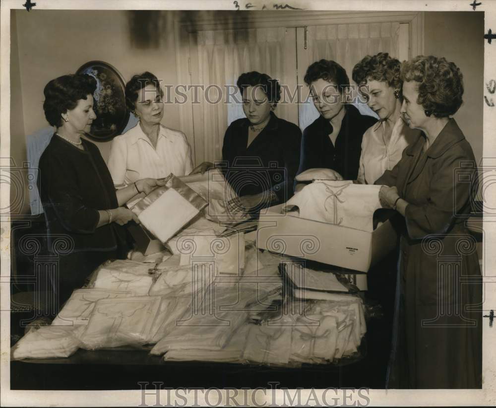
[[[247,148],[248,126],[248,119],[238,119],[226,131],[222,146],[226,179],[240,197],[273,191],[284,203],[293,195],[302,132],[271,113],[267,126]]]

